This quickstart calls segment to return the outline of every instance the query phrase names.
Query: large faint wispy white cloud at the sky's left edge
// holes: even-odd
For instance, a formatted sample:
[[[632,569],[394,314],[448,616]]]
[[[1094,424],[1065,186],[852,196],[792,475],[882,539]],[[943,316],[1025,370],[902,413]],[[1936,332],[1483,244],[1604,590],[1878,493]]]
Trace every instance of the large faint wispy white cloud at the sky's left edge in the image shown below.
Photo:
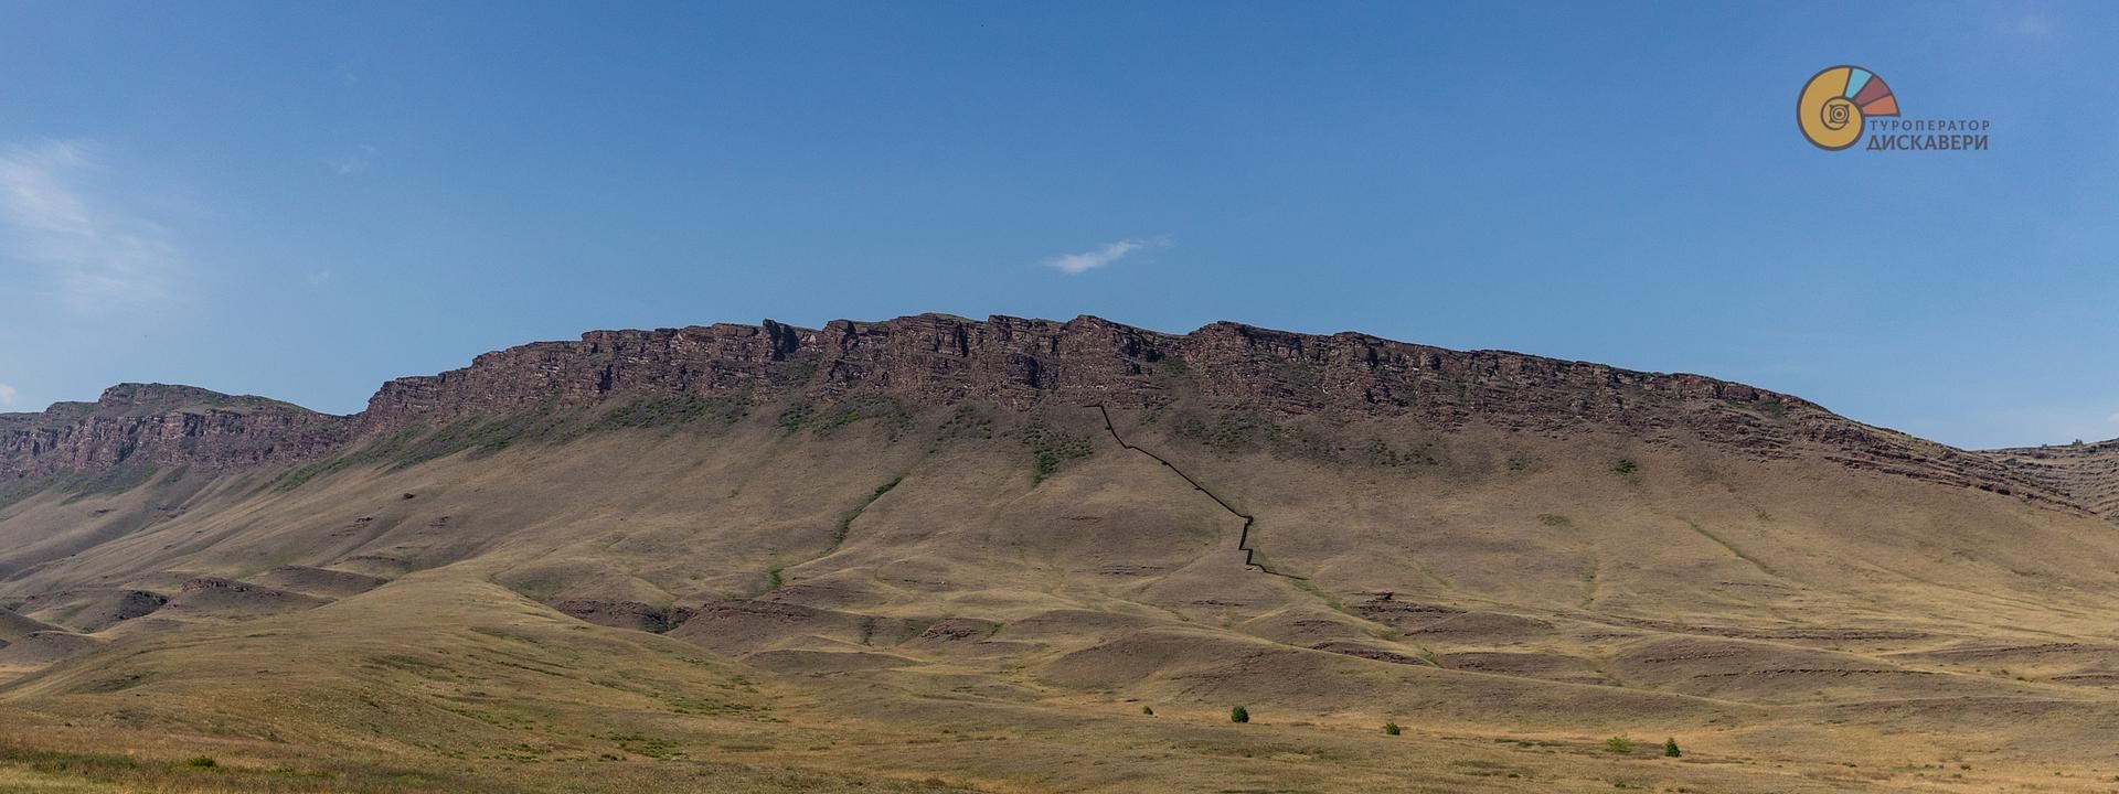
[[[102,174],[93,144],[0,146],[0,260],[40,269],[76,309],[167,299],[170,231],[97,191]]]

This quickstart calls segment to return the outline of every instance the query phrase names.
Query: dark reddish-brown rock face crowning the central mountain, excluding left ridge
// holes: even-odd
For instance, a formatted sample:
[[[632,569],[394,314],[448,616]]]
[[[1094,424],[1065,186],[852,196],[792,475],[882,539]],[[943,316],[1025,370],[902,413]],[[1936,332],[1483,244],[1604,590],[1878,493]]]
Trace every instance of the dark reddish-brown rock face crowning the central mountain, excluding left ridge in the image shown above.
[[[612,394],[837,400],[884,394],[913,404],[1055,400],[1151,407],[1178,385],[1229,407],[1471,415],[1526,423],[1655,423],[1657,400],[1816,407],[1697,375],[1651,375],[1507,351],[1452,351],[1365,335],[1310,337],[1218,322],[1161,335],[1098,318],[1070,322],[918,315],[676,330],[598,330],[479,356],[468,368],[390,381],[360,415],[364,432],[585,407]]]

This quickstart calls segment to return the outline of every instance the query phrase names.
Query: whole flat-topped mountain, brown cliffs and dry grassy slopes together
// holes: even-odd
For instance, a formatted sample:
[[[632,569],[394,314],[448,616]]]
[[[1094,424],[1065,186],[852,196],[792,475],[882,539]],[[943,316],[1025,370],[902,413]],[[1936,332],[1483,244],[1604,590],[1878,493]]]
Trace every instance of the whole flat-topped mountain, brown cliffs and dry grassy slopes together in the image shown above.
[[[602,330],[343,417],[119,385],[0,415],[0,756],[216,790],[2102,792],[2111,447],[1096,318]],[[49,737],[140,756],[6,745]]]

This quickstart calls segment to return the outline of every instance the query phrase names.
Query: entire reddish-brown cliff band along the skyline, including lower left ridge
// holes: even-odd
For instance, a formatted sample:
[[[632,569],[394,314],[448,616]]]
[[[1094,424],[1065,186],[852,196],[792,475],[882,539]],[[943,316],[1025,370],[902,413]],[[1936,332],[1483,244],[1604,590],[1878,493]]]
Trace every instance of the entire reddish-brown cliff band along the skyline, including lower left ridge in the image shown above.
[[[1593,426],[1649,440],[1689,434],[1757,457],[1810,449],[1852,468],[2062,500],[2049,481],[1998,459],[1699,375],[1233,322],[1163,335],[1087,315],[595,330],[581,341],[511,347],[460,371],[384,383],[367,411],[352,417],[189,387],[121,385],[95,404],[0,417],[0,474],[25,479],[129,459],[203,468],[284,464],[377,434],[657,394],[759,404],[888,396],[909,404],[1009,409],[1091,402],[1142,409],[1195,398],[1231,411],[1415,417],[1437,428]]]

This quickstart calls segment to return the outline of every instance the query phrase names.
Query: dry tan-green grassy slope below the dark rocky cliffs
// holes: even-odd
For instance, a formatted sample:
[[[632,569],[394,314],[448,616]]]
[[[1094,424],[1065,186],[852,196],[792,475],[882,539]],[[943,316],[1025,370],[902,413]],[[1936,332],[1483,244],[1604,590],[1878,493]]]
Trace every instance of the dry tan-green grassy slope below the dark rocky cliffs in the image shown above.
[[[0,758],[17,779],[144,790],[2102,790],[2113,773],[2098,673],[2119,671],[2100,620],[2119,540],[2094,519],[1598,434],[1358,428],[1426,449],[1371,466],[1121,415],[1254,512],[1254,544],[1303,582],[1244,572],[1237,521],[1093,415],[1047,417],[1096,453],[1043,483],[1013,415],[994,417],[992,438],[943,415],[822,434],[752,417],[290,491],[11,506],[0,538],[163,515],[0,595],[176,595],[282,565],[394,580],[106,629],[0,690],[17,726]],[[752,597],[769,608],[723,603]],[[659,637],[545,606],[568,599],[706,612]],[[1233,703],[1259,720],[1227,724]],[[1621,733],[1678,735],[1689,756],[1606,752]],[[19,747],[148,760],[36,773]],[[170,766],[191,754],[235,771]],[[335,777],[261,773],[282,766]]]

